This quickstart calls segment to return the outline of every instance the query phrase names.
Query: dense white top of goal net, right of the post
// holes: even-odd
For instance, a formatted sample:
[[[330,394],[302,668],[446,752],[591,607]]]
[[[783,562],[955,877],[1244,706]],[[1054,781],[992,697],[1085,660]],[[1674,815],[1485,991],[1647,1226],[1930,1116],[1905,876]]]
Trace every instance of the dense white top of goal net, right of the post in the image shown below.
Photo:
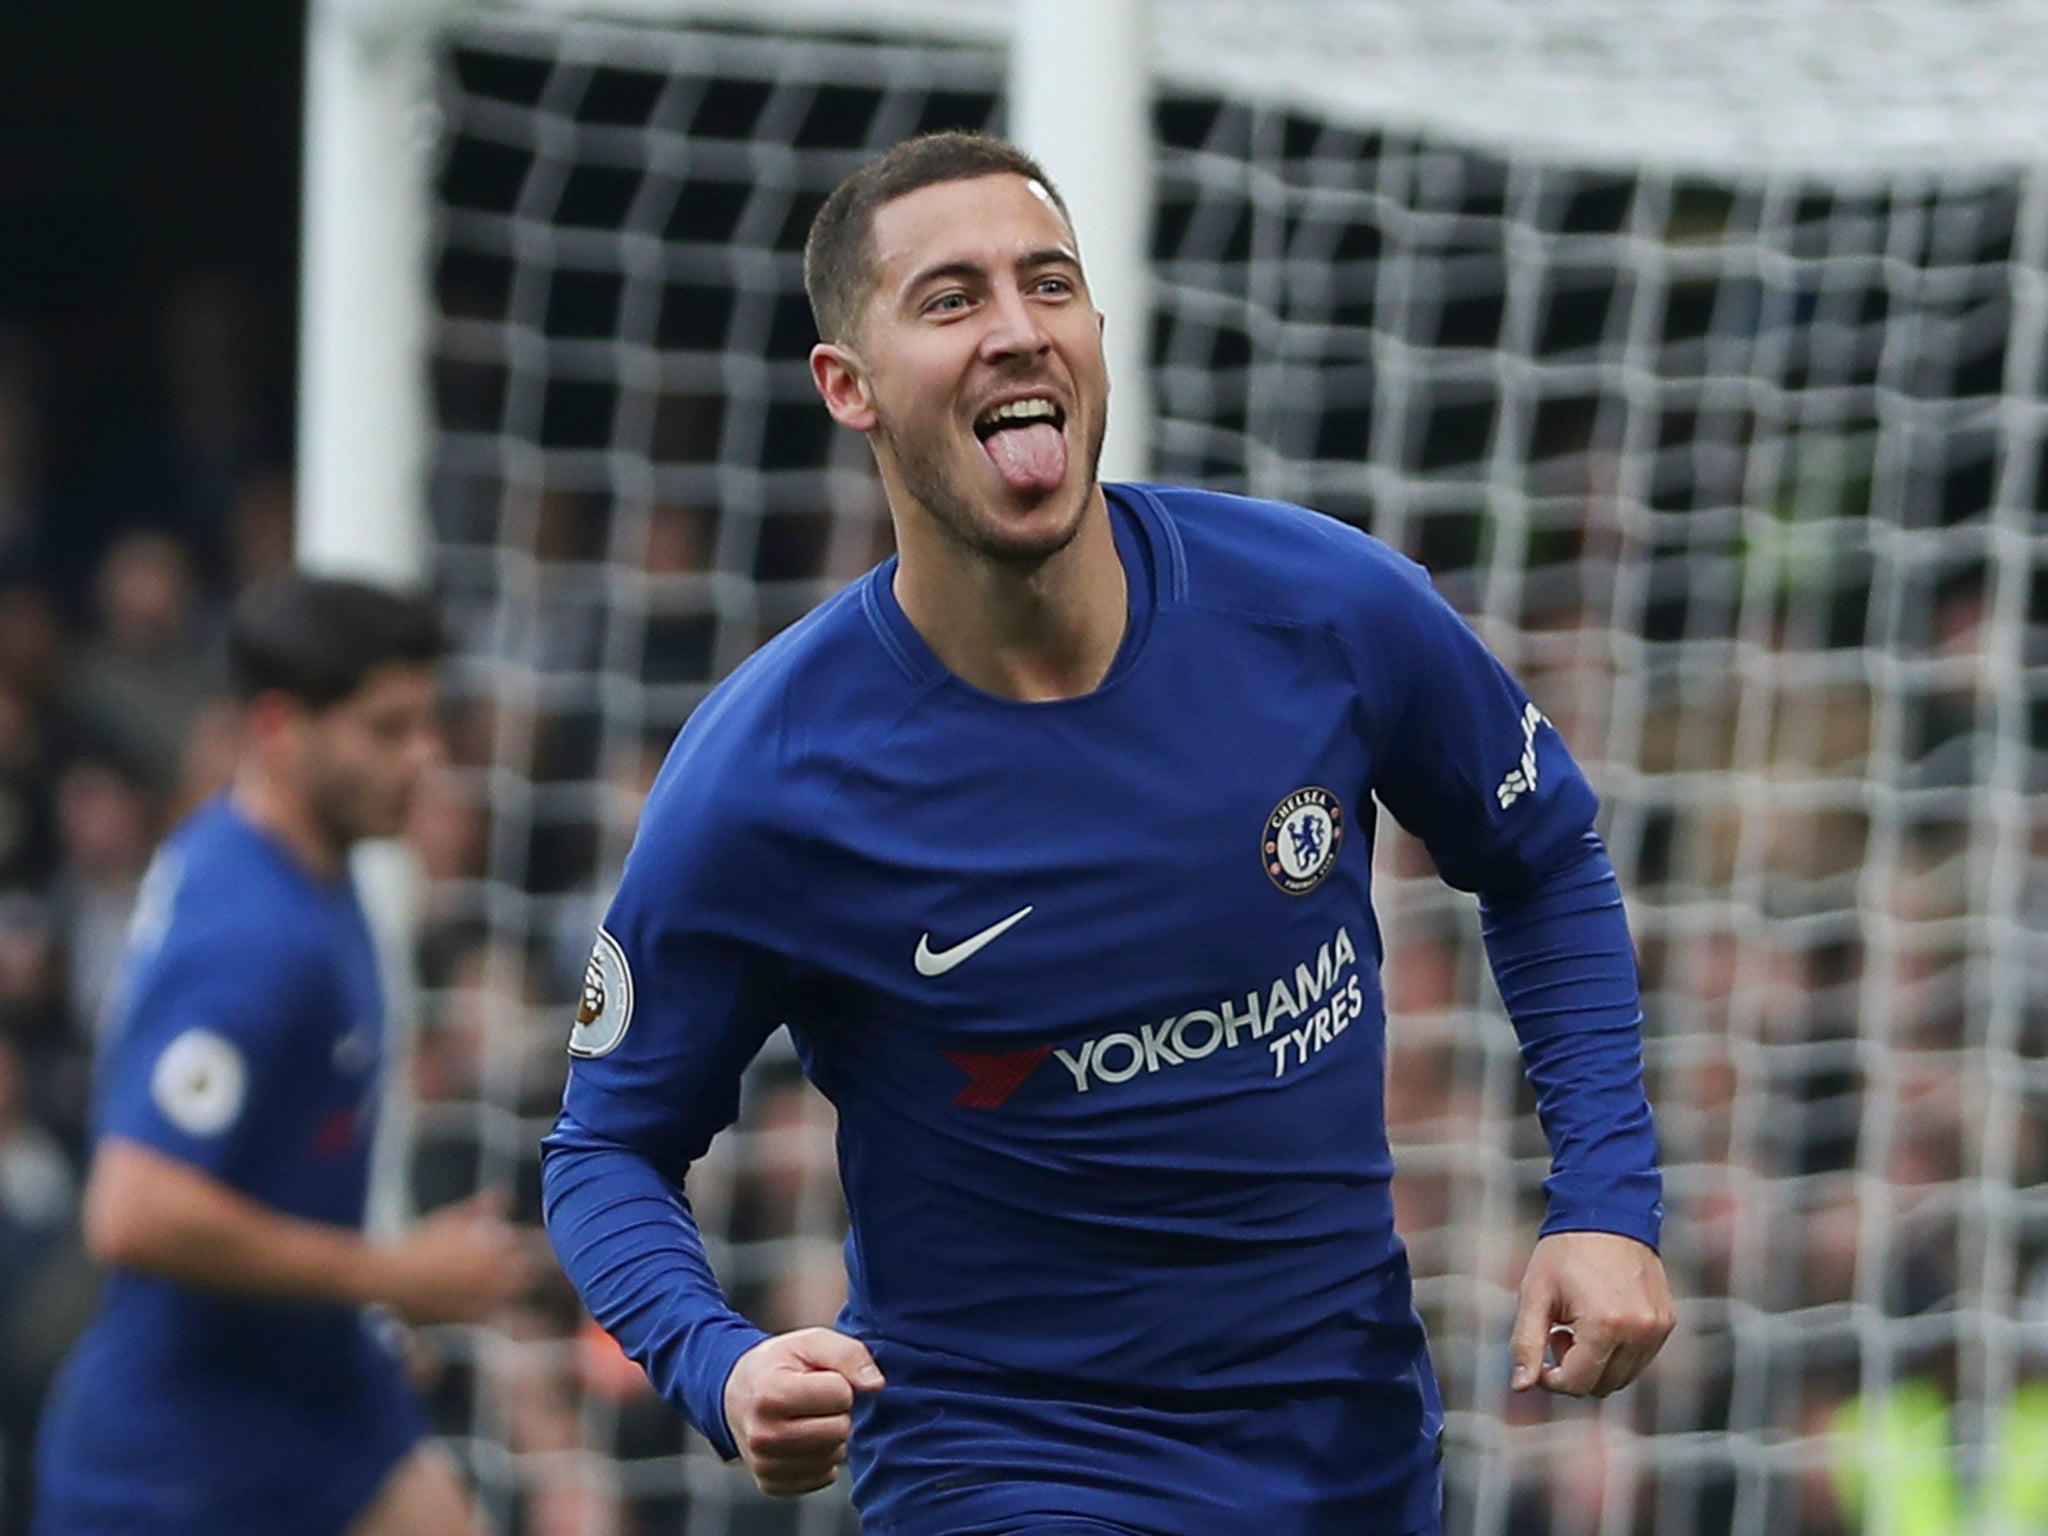
[[[2040,164],[2032,0],[1165,0],[1182,88],[1524,160],[1890,180]]]

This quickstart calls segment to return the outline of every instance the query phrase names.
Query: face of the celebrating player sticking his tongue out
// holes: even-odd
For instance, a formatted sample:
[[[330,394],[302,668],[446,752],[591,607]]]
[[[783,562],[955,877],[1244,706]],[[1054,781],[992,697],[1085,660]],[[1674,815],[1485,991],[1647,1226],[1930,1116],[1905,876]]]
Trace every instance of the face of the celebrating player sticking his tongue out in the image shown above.
[[[926,522],[1006,563],[1081,526],[1108,408],[1102,315],[1073,231],[1038,182],[979,176],[885,203],[874,293],[831,414],[874,442],[905,543]]]

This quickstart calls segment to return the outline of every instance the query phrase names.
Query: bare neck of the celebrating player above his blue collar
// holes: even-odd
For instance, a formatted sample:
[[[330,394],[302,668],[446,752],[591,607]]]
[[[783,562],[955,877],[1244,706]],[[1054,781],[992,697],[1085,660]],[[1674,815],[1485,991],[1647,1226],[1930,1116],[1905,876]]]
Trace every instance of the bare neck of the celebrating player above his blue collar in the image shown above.
[[[1004,565],[950,539],[903,541],[893,590],[952,676],[1022,702],[1094,692],[1130,621],[1100,489],[1073,541],[1038,565]]]

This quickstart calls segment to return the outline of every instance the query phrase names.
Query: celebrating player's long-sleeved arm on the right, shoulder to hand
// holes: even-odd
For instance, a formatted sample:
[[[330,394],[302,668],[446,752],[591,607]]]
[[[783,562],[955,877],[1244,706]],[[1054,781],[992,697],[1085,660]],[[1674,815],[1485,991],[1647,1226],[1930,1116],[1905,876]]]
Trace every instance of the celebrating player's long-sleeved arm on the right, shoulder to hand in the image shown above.
[[[1487,958],[1550,1143],[1513,1384],[1606,1395],[1634,1380],[1675,1323],[1657,1257],[1663,1180],[1628,918],[1593,793],[1559,733],[1419,573],[1411,596],[1405,623],[1382,633],[1407,686],[1386,694],[1374,788],[1444,879],[1481,897]]]

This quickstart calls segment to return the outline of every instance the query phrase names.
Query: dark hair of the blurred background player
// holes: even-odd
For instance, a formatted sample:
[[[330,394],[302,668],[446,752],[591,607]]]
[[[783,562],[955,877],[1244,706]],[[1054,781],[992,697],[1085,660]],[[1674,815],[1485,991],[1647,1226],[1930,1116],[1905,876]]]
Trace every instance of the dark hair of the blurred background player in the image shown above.
[[[446,651],[434,604],[332,575],[274,575],[236,598],[227,672],[242,698],[279,690],[309,709],[348,698],[381,666]]]

